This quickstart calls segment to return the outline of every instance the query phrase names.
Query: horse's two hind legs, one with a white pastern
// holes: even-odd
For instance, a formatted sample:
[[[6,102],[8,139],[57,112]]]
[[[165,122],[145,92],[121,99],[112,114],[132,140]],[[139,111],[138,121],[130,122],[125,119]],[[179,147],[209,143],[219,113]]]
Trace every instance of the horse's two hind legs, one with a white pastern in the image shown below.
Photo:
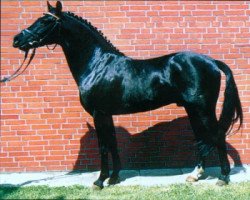
[[[205,169],[205,158],[214,149],[218,149],[221,175],[216,185],[223,186],[229,183],[230,163],[227,157],[225,133],[220,130],[215,115],[215,109],[202,107],[186,109],[190,118],[195,138],[197,140],[199,162],[187,181],[198,181]]]

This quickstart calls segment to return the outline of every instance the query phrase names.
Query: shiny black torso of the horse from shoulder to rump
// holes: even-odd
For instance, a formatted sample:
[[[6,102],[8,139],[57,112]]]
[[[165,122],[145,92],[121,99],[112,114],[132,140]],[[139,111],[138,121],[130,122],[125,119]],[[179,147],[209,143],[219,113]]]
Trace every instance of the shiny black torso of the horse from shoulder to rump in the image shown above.
[[[87,68],[77,82],[81,102],[90,114],[96,110],[108,115],[135,113],[170,103],[200,104],[209,93],[217,98],[220,86],[215,61],[192,52],[133,60],[97,48]],[[217,87],[209,87],[211,82]]]

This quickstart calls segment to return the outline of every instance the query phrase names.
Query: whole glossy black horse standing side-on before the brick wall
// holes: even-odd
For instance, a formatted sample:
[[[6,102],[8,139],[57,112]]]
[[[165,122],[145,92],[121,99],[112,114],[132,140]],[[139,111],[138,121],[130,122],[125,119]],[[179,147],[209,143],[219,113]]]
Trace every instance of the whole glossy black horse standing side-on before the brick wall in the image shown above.
[[[198,166],[187,180],[198,180],[205,157],[217,148],[221,163],[218,184],[228,183],[225,138],[237,120],[241,127],[243,113],[232,71],[225,63],[193,52],[135,60],[119,52],[85,19],[62,12],[59,1],[56,7],[47,4],[48,12],[16,35],[13,46],[26,52],[49,44],[62,46],[81,104],[94,118],[101,154],[101,173],[95,186],[103,188],[109,177],[109,184],[119,182],[121,164],[112,115],[148,111],[171,103],[186,109],[199,149]],[[226,75],[226,89],[217,120],[220,71]],[[113,161],[111,176],[109,152]]]

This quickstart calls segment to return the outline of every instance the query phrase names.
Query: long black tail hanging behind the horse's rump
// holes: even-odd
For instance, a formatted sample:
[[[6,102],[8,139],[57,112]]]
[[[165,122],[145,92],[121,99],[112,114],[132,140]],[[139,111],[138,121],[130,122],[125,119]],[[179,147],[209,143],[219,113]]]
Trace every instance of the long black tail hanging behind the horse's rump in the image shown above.
[[[238,130],[241,128],[243,123],[243,112],[232,71],[225,63],[219,60],[216,60],[216,64],[226,75],[226,89],[222,113],[219,119],[219,127],[224,133],[228,134],[238,120]]]

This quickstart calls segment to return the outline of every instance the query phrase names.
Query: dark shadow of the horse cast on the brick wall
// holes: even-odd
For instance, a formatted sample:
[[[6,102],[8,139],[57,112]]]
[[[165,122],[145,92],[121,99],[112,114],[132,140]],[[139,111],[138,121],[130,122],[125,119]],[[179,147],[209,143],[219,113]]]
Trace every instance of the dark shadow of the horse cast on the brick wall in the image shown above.
[[[100,158],[95,129],[90,124],[87,126],[88,132],[81,138],[73,173],[99,170]],[[123,170],[186,168],[196,165],[197,149],[188,117],[161,122],[136,134],[129,133],[121,126],[115,128]],[[238,151],[229,143],[227,146],[234,166],[242,166]],[[217,150],[207,157],[206,164],[208,167],[220,166]],[[232,173],[237,173],[237,169],[232,170]]]

